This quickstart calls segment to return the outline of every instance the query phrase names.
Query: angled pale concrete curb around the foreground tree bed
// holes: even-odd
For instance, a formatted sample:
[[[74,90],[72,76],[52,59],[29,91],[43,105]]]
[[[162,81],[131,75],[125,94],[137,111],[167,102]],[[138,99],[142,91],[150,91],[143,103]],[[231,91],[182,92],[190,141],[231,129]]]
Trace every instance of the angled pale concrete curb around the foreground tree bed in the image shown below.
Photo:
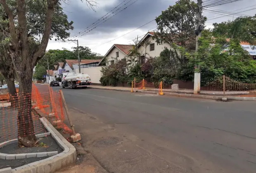
[[[53,126],[47,119],[40,118],[48,132],[52,134],[52,137],[56,140],[60,147],[64,150],[55,156],[48,157],[40,161],[33,162],[15,169],[12,169],[12,173],[54,173],[59,169],[74,164],[76,161],[76,149],[71,145]],[[0,170],[1,171],[1,170]]]

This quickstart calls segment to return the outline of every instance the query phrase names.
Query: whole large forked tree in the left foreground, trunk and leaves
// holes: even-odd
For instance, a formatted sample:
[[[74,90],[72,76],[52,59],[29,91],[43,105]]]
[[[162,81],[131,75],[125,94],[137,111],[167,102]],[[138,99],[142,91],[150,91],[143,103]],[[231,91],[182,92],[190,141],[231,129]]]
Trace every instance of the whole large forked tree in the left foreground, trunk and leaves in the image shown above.
[[[60,0],[0,0],[0,4],[0,14],[5,14],[0,21],[9,25],[8,36],[1,44],[5,44],[19,80],[19,145],[31,147],[36,143],[31,116],[33,68],[44,56],[50,38],[69,37],[66,30],[73,28],[72,22],[63,18],[66,15]]]

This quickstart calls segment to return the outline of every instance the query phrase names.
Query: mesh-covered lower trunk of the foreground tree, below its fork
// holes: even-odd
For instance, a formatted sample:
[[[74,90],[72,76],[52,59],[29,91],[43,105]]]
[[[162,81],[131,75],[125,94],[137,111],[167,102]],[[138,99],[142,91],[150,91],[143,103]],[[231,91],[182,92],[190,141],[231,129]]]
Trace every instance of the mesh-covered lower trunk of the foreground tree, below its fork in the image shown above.
[[[31,67],[30,67],[31,68]],[[26,69],[19,74],[19,110],[18,110],[18,141],[19,146],[33,147],[36,143],[32,113],[31,113],[31,91],[32,91],[33,68]]]

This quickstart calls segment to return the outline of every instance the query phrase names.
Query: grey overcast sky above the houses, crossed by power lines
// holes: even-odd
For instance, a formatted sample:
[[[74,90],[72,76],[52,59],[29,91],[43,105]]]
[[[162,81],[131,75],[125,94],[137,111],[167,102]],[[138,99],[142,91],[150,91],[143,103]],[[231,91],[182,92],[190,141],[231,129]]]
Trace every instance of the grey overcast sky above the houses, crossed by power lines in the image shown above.
[[[83,2],[81,2],[81,0],[69,0],[69,2],[62,5],[64,8],[64,12],[68,16],[68,20],[74,22],[73,23],[74,30],[70,31],[71,33],[70,38],[78,39],[80,46],[87,46],[93,52],[96,52],[101,55],[105,55],[113,44],[131,44],[132,40],[135,37],[137,37],[137,35],[140,37],[142,35],[145,35],[148,31],[155,30],[156,23],[155,21],[152,21],[152,20],[155,19],[155,17],[159,16],[162,10],[167,9],[169,5],[174,5],[177,0],[95,0],[98,3],[97,8],[95,9],[96,12],[93,11],[92,9],[89,9],[84,1],[85,0],[83,0]],[[207,0],[207,1],[203,0],[203,5],[207,5],[214,1],[216,0]],[[130,6],[127,7],[128,5]],[[125,7],[127,8],[121,11]],[[241,0],[241,1],[232,2],[225,5],[211,7],[211,9],[209,10],[219,11],[219,12],[220,10],[224,10],[224,11],[233,12],[233,13],[239,12],[238,14],[243,14],[243,15],[255,15],[256,9],[254,8],[256,8],[256,0]],[[116,14],[115,16],[113,16],[114,14],[111,14],[112,13],[111,12],[109,13],[111,15],[108,16],[109,14],[107,13],[110,12],[112,9],[114,9],[112,11],[114,12],[114,14],[116,14],[119,11],[121,12]],[[249,9],[253,9],[253,10],[246,11]],[[242,11],[246,11],[246,12],[242,12]],[[109,19],[107,21],[102,19],[102,16],[104,16],[105,14],[107,14],[106,15],[107,19]],[[225,16],[227,14],[220,15],[220,13],[218,12],[210,12],[210,11],[203,10],[203,15],[208,18],[206,23],[207,27],[211,27],[212,23],[215,23],[215,22],[220,23],[222,21],[233,20],[233,15]],[[110,18],[111,16],[113,17]],[[237,17],[237,14],[234,15],[234,19],[236,17]],[[217,19],[213,19],[213,18],[217,18]],[[97,22],[95,23],[95,21]],[[103,21],[105,22],[102,23]],[[149,21],[152,21],[152,22],[148,23]],[[92,23],[95,23],[95,24],[92,25]],[[148,23],[148,24],[123,37],[120,37],[144,25],[145,23]],[[90,27],[87,28],[88,26]],[[88,32],[90,28],[94,28],[95,26],[97,26],[95,29]],[[81,32],[79,37],[73,37],[79,32]],[[117,37],[120,37],[120,38],[116,39]],[[111,40],[114,40],[114,41],[111,41]],[[73,42],[56,42],[54,40],[50,40],[47,46],[47,50],[62,49],[62,47],[71,49],[71,47],[74,47],[74,46],[76,46],[76,44],[74,44]]]

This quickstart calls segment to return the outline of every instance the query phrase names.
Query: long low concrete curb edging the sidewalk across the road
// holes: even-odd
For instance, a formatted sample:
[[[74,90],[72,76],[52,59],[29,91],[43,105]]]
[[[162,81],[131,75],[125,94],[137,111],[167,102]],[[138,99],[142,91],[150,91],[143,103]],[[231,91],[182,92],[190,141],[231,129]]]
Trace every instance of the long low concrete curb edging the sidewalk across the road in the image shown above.
[[[126,89],[109,89],[109,88],[96,88],[96,87],[88,87],[90,89],[103,89],[103,90],[112,90],[112,91],[126,91],[130,92]],[[158,94],[158,91],[143,91],[136,90],[137,93],[148,93],[148,94]],[[208,95],[197,95],[197,94],[180,94],[180,93],[170,93],[164,92],[164,95],[168,96],[178,96],[178,97],[192,97],[192,98],[204,98],[204,99],[212,99],[212,100],[221,100],[223,96],[208,96]],[[226,96],[228,100],[237,100],[237,101],[256,101],[256,97],[236,97],[236,96]]]

